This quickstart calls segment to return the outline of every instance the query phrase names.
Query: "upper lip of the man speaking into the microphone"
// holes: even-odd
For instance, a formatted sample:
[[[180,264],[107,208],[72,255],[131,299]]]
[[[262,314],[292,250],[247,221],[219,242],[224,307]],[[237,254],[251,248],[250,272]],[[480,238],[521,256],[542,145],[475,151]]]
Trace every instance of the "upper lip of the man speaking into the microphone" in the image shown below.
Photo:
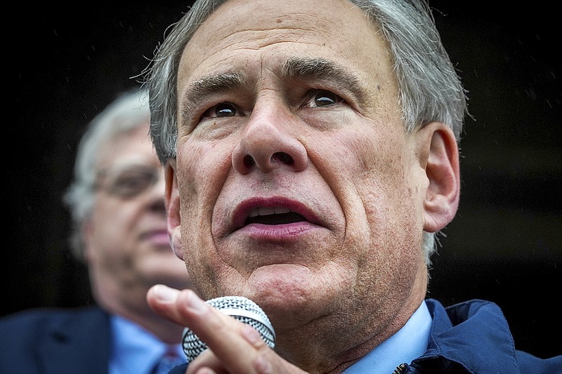
[[[242,201],[233,212],[233,231],[244,227],[247,218],[272,213],[298,213],[308,222],[318,224],[318,218],[304,203],[282,196],[254,197]]]

